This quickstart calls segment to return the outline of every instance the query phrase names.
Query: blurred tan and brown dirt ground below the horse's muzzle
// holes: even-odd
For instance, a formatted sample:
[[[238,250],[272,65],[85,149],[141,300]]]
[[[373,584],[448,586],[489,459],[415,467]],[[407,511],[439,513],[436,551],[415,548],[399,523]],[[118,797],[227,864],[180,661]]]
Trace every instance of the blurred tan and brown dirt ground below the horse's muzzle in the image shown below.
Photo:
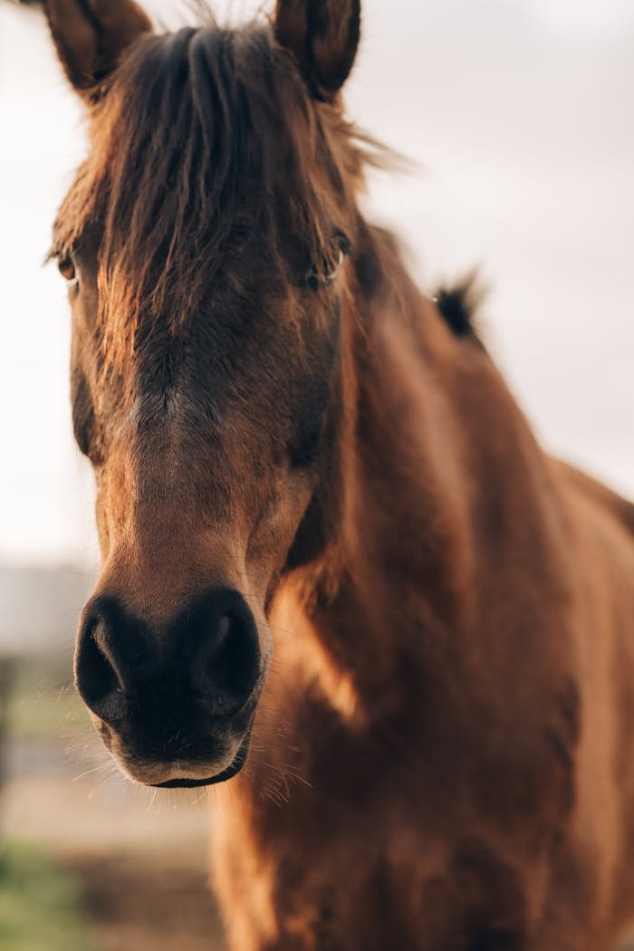
[[[204,796],[154,795],[100,765],[86,772],[86,751],[81,764],[62,749],[13,752],[3,828],[77,873],[98,951],[223,951]]]

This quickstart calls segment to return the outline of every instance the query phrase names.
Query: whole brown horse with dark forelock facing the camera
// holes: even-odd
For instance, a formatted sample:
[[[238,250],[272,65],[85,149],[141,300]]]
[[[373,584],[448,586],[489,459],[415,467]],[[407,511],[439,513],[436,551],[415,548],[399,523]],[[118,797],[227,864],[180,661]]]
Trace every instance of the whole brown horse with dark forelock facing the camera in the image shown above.
[[[54,253],[106,746],[142,784],[231,780],[235,951],[608,948],[634,913],[634,511],[536,444],[470,288],[425,300],[361,216],[358,0],[48,20],[89,116]]]

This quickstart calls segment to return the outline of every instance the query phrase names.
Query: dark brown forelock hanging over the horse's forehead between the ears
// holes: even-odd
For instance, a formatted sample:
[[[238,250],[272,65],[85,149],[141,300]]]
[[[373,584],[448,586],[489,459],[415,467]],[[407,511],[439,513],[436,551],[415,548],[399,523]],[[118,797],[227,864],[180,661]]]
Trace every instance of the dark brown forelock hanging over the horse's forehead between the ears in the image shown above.
[[[142,320],[168,315],[177,331],[228,250],[254,234],[283,266],[280,215],[309,256],[323,254],[364,166],[380,162],[379,146],[337,107],[313,105],[268,23],[139,40],[95,107],[91,146],[54,253],[91,224],[101,232],[102,348],[115,366]]]

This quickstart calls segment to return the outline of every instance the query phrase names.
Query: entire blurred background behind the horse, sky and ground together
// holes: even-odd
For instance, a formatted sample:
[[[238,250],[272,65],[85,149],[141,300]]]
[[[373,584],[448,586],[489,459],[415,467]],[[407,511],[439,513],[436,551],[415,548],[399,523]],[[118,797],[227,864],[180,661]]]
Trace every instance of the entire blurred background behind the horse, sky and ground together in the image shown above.
[[[146,8],[168,27],[191,19],[177,0]],[[420,165],[373,176],[368,214],[406,239],[428,290],[480,267],[490,350],[538,435],[634,495],[634,4],[364,13],[348,111]],[[114,774],[69,685],[97,548],[66,291],[42,261],[84,130],[41,14],[11,0],[0,142],[0,951],[221,949],[205,797]]]

